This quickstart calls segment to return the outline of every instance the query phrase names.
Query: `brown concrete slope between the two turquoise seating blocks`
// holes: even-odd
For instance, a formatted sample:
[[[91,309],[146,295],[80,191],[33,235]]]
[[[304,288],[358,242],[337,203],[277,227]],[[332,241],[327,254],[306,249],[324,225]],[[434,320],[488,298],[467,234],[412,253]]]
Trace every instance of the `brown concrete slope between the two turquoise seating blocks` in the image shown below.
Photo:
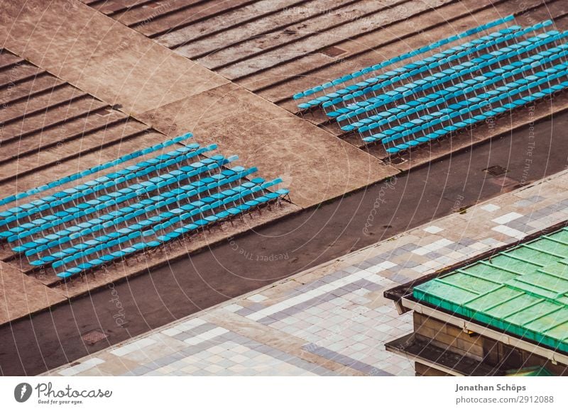
[[[399,172],[236,84],[138,117],[167,135],[200,130],[199,140],[239,153],[266,178],[283,177],[292,201],[304,208]]]

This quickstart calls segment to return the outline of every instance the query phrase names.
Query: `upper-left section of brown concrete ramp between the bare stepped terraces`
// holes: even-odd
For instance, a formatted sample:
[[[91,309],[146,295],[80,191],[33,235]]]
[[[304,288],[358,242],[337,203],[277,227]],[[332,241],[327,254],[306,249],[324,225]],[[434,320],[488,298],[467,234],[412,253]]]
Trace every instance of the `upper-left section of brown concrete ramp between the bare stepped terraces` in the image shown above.
[[[126,113],[226,79],[74,0],[3,1],[0,44]]]

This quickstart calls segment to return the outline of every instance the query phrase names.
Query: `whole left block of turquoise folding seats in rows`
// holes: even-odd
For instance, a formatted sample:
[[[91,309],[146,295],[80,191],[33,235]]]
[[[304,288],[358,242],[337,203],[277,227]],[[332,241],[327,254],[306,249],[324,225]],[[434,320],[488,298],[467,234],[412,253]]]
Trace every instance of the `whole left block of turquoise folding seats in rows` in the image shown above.
[[[11,206],[0,212],[1,244],[33,270],[73,278],[288,197],[276,187],[280,179],[255,177],[256,167],[234,166],[236,156],[214,154],[217,145],[200,147],[191,137],[1,199]],[[50,192],[38,196],[43,191]]]

